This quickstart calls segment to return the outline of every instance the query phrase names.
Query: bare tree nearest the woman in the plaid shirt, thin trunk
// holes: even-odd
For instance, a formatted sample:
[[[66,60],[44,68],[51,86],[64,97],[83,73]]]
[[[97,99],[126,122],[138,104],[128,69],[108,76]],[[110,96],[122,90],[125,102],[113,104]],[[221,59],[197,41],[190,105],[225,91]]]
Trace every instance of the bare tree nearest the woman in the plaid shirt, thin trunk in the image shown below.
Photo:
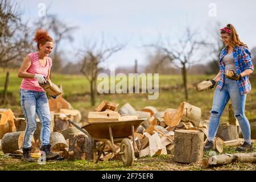
[[[158,43],[150,45],[150,47],[154,47],[156,50],[162,52],[176,68],[181,70],[185,100],[188,100],[187,69],[197,63],[192,57],[202,44],[204,44],[204,42],[197,41],[196,32],[192,32],[192,30],[187,27],[185,28],[184,36],[179,39],[179,43],[176,45],[172,45],[169,40],[166,40],[166,43],[159,41]]]

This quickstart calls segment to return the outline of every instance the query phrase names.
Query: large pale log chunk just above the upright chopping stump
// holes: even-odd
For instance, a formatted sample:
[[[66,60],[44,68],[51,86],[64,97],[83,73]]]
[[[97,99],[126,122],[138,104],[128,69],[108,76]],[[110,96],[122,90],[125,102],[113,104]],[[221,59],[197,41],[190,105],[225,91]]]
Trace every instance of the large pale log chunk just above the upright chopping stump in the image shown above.
[[[183,115],[181,120],[183,122],[192,122],[195,127],[199,127],[201,121],[201,109],[199,107],[188,104],[187,102],[182,102]]]

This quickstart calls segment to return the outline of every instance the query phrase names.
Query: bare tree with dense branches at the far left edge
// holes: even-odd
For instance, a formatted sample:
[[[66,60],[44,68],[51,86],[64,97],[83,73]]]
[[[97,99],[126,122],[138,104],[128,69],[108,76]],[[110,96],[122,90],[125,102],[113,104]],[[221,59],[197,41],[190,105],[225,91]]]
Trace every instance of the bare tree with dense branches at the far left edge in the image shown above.
[[[0,67],[10,67],[16,60],[22,60],[24,53],[30,51],[27,24],[21,20],[18,3],[0,1]],[[9,72],[6,73],[3,104],[7,103]]]

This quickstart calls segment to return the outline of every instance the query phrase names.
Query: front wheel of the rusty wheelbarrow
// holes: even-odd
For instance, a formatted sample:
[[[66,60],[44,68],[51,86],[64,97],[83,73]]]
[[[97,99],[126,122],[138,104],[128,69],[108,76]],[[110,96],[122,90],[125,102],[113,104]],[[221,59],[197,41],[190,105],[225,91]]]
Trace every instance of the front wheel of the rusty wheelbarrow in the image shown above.
[[[124,166],[132,166],[134,160],[134,148],[133,144],[129,139],[125,138],[121,142],[121,155],[122,162]]]

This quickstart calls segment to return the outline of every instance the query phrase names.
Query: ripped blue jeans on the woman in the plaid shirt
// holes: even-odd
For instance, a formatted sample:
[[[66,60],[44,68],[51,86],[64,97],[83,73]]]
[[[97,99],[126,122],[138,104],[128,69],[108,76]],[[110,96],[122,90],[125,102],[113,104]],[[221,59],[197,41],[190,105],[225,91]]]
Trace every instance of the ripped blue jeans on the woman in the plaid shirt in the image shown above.
[[[224,77],[224,84],[221,90],[216,89],[213,96],[212,111],[210,111],[208,140],[214,141],[214,137],[220,124],[220,117],[229,99],[234,108],[234,114],[240,125],[243,139],[251,143],[250,123],[245,117],[246,94],[241,96],[236,80]]]

